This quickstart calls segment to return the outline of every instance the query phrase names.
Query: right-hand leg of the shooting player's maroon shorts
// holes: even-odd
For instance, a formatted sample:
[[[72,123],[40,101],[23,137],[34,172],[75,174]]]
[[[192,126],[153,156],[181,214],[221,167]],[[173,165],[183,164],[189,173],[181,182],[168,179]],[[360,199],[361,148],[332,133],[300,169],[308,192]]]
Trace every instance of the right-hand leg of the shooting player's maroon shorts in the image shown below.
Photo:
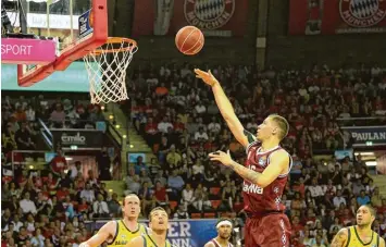
[[[263,235],[261,247],[289,247],[290,246],[290,223],[284,213],[270,214],[261,220],[261,235]]]

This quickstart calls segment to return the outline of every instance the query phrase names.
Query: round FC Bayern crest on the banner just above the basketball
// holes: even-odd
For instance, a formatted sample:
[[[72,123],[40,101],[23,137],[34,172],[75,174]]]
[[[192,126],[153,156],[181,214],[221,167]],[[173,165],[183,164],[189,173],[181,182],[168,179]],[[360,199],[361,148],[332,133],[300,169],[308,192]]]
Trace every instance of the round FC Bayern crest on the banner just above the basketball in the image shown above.
[[[235,0],[185,0],[185,17],[201,29],[224,26],[235,12]]]

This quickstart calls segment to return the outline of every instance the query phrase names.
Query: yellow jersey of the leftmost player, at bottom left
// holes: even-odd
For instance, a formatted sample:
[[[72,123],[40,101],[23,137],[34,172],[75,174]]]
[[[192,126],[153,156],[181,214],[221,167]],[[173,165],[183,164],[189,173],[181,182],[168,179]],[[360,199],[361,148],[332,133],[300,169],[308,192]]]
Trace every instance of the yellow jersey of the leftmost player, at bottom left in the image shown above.
[[[142,224],[138,224],[138,229],[134,232],[129,231],[125,223],[120,220],[116,221],[116,232],[112,242],[108,243],[108,246],[125,247],[133,238],[148,234],[148,227]]]

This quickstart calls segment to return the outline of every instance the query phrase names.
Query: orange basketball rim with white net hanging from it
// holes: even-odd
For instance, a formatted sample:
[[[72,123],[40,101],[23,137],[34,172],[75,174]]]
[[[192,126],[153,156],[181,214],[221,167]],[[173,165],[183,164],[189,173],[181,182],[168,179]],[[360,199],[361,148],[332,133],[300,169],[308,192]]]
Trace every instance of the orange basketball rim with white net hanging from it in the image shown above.
[[[109,103],[128,99],[126,69],[137,52],[137,42],[128,38],[108,41],[84,57],[90,84],[91,103]]]

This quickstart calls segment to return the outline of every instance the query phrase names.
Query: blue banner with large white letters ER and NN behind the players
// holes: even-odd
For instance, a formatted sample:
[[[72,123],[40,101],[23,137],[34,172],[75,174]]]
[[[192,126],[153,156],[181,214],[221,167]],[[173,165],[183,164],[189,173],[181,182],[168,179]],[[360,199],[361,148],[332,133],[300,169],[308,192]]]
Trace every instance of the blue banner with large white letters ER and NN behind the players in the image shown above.
[[[202,247],[217,235],[216,222],[216,219],[170,220],[167,239],[178,247]],[[105,223],[105,221],[97,221],[95,229],[99,230]]]

